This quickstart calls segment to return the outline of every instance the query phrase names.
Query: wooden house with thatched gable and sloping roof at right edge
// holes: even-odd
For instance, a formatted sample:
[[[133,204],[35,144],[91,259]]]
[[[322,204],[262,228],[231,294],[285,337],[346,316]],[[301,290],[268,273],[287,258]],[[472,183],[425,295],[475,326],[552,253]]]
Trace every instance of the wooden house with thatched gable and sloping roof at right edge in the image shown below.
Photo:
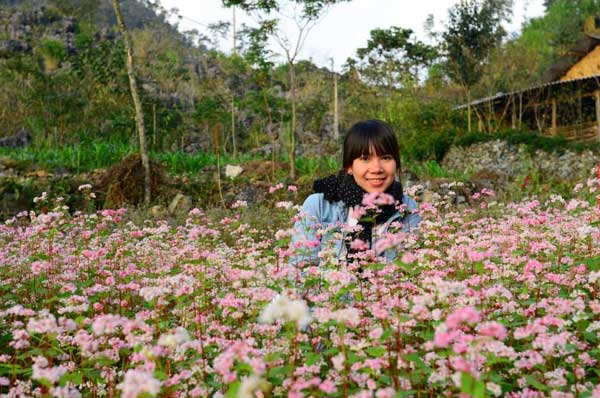
[[[512,127],[600,141],[600,17],[586,21],[580,39],[544,72],[541,85],[475,100],[471,112],[480,131]]]

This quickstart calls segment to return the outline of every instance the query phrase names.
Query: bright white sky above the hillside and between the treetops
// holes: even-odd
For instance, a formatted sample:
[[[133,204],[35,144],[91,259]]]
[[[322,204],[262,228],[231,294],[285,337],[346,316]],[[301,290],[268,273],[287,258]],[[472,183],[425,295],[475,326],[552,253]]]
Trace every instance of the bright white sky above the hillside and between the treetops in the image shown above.
[[[457,0],[352,0],[330,7],[309,32],[299,54],[299,59],[311,59],[319,66],[331,67],[334,60],[335,70],[340,70],[348,57],[352,57],[357,48],[364,47],[369,32],[375,28],[400,26],[412,29],[416,36],[425,42],[429,38],[424,32],[424,22],[428,15],[435,18],[435,30],[443,29],[448,8]],[[221,0],[162,0],[167,8],[177,8],[180,30],[196,29],[208,34],[207,25],[218,21],[232,21],[231,9],[222,7]],[[543,14],[543,0],[514,0],[512,22],[507,30],[516,33],[523,22]],[[241,10],[236,12],[236,25],[241,23],[256,25],[256,19]],[[282,26],[292,41],[296,39],[297,29],[289,21],[282,20]],[[232,39],[222,40],[220,49],[230,51]],[[271,43],[273,51],[281,53],[276,43]]]

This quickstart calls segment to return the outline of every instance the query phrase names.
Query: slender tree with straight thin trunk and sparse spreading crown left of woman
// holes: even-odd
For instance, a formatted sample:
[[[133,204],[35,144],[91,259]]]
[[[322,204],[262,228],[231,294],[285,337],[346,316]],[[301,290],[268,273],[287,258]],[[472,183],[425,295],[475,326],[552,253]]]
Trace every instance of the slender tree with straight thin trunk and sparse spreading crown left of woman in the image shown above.
[[[310,30],[323,11],[337,2],[349,0],[223,0],[227,7],[238,6],[246,11],[256,11],[264,31],[275,39],[286,59],[290,84],[292,121],[290,131],[290,178],[296,178],[296,60]],[[273,16],[277,18],[273,18]],[[297,27],[295,38],[290,38],[279,28],[278,20],[291,19]]]

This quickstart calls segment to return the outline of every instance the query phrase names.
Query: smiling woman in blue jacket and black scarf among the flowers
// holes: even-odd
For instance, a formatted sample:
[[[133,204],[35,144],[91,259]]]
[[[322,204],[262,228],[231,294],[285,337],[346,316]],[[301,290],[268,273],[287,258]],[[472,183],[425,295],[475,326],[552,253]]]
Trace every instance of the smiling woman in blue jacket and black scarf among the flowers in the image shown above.
[[[343,170],[315,181],[314,193],[302,206],[305,216],[294,225],[292,264],[318,263],[318,253],[324,249],[333,250],[337,259],[367,248],[375,250],[377,236],[388,232],[394,222],[404,232],[417,228],[420,216],[413,214],[417,204],[404,195],[399,171],[398,141],[387,123],[366,120],[352,126],[344,139]],[[391,195],[396,203],[380,206],[371,217],[361,217],[359,208],[367,193]],[[362,229],[344,232],[357,224]],[[357,239],[363,244],[357,244]],[[388,260],[396,257],[393,249],[376,254]]]

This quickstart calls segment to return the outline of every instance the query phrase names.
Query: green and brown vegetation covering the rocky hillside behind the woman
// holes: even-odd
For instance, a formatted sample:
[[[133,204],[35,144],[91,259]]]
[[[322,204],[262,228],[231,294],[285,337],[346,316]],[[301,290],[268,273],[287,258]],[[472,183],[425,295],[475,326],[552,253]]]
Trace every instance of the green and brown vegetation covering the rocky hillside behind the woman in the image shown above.
[[[501,22],[510,2],[480,3],[495,7],[495,41],[476,65],[479,79],[468,87],[474,98],[538,82],[598,9],[591,0],[549,2],[545,16],[508,37]],[[152,150],[213,151],[218,129],[221,151],[288,153],[289,65],[274,63],[256,31],[238,29],[237,52],[224,53],[214,38],[178,33],[160,5],[127,0],[123,10]],[[214,35],[224,29],[214,27]],[[428,45],[410,30],[384,27],[357,48],[337,76],[342,131],[379,117],[395,127],[405,156],[443,156],[465,130],[465,115],[452,108],[466,95],[451,78],[449,28],[431,31]],[[26,130],[36,147],[134,144],[123,45],[108,0],[2,1],[0,37],[1,136]],[[295,67],[298,151],[334,153],[335,142],[323,144],[333,137],[333,73],[310,61]]]

